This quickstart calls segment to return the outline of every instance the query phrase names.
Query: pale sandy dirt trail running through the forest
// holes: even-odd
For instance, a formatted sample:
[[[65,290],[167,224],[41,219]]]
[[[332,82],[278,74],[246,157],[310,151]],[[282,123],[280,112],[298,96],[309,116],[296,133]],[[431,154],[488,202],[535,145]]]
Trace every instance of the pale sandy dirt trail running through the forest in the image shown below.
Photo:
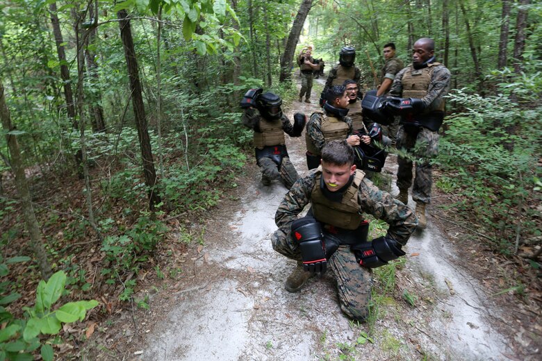
[[[315,100],[290,108],[310,115],[317,106]],[[306,174],[304,137],[289,139],[287,145],[299,173]],[[395,164],[388,159],[389,173],[395,173]],[[147,322],[154,326],[131,345],[142,352],[130,358],[509,360],[505,355],[514,354],[488,318],[499,310],[484,301],[477,281],[454,265],[455,251],[432,217],[427,230],[411,237],[406,267],[397,272],[397,287],[414,295],[414,306],[384,300],[370,334],[373,342],[356,342],[370,330],[343,316],[330,274],[311,278],[295,294],[284,289],[295,262],[272,250],[269,235],[276,229],[274,212],[286,188],[277,182],[263,187],[257,167],[250,167],[249,174],[240,201],[219,208],[208,221],[194,282],[171,292],[169,301],[152,312],[154,319]]]

